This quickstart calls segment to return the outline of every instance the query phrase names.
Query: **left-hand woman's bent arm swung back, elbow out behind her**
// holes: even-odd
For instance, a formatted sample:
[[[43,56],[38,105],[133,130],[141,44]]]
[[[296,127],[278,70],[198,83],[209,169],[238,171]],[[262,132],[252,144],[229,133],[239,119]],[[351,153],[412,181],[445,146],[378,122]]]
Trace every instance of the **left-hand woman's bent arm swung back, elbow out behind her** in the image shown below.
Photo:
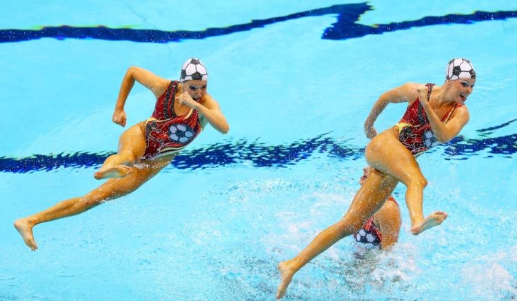
[[[133,88],[134,81],[138,81],[141,85],[151,90],[156,98],[159,98],[160,95],[165,92],[170,83],[168,79],[163,79],[163,77],[157,76],[149,70],[136,66],[128,68],[128,71],[125,72],[124,78],[122,79],[119,97],[116,98],[115,110],[112,117],[112,121],[122,127],[125,127],[126,121],[124,112],[125,101],[128,99]]]

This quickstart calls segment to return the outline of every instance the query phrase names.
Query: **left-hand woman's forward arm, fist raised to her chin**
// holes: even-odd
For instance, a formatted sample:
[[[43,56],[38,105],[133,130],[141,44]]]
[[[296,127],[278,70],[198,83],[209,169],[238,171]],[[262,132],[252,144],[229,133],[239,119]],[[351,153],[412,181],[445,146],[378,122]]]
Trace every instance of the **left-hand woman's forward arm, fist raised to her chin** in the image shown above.
[[[199,112],[201,118],[204,118],[207,123],[210,123],[214,129],[217,129],[222,134],[230,131],[230,125],[228,125],[223,112],[221,112],[219,104],[209,94],[203,96],[202,103],[197,103],[185,92],[179,96],[179,103]]]

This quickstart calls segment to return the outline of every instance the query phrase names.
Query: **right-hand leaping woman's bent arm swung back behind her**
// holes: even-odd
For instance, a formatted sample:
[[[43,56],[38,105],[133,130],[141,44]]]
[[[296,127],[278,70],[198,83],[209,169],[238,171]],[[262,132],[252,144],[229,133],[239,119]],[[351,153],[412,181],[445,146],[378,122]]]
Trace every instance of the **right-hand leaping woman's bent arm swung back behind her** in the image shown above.
[[[418,84],[405,83],[404,85],[396,87],[393,90],[389,90],[379,96],[365,121],[365,133],[368,138],[371,139],[377,135],[374,123],[389,103],[407,103],[418,96],[416,85]]]

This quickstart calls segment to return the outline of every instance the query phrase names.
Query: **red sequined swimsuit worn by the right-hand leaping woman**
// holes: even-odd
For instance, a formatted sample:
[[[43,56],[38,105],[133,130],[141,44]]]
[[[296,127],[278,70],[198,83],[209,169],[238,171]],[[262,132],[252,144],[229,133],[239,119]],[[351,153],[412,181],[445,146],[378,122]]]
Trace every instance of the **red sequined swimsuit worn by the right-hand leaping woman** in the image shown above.
[[[427,101],[431,96],[434,83],[428,83],[427,87]],[[442,122],[445,124],[449,121],[452,112],[456,109],[458,104],[456,103],[447,114],[442,118]],[[416,101],[407,107],[407,110],[402,117],[401,121],[396,124],[398,127],[398,141],[409,149],[414,156],[418,156],[427,149],[434,147],[438,144],[436,137],[431,129],[431,124],[425,114],[424,107],[416,98]]]

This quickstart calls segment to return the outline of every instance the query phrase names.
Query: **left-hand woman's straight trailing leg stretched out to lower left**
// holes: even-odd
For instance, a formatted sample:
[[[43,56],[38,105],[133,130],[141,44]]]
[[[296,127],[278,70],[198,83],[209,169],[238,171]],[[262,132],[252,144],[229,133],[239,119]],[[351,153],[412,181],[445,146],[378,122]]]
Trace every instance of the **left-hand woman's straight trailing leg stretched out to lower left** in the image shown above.
[[[170,158],[172,160],[172,158]],[[170,162],[170,161],[169,161]],[[103,183],[103,185],[90,191],[90,193],[79,198],[70,198],[63,200],[61,203],[32,214],[26,218],[20,218],[14,222],[14,227],[18,230],[23,241],[32,251],[35,251],[38,246],[34,240],[32,228],[42,222],[49,222],[59,218],[74,216],[88,211],[101,203],[119,198],[130,194],[132,191],[140,187],[147,180],[157,174],[163,167],[168,165],[166,160],[148,163],[144,168],[134,168],[130,176],[125,178],[110,179]]]

